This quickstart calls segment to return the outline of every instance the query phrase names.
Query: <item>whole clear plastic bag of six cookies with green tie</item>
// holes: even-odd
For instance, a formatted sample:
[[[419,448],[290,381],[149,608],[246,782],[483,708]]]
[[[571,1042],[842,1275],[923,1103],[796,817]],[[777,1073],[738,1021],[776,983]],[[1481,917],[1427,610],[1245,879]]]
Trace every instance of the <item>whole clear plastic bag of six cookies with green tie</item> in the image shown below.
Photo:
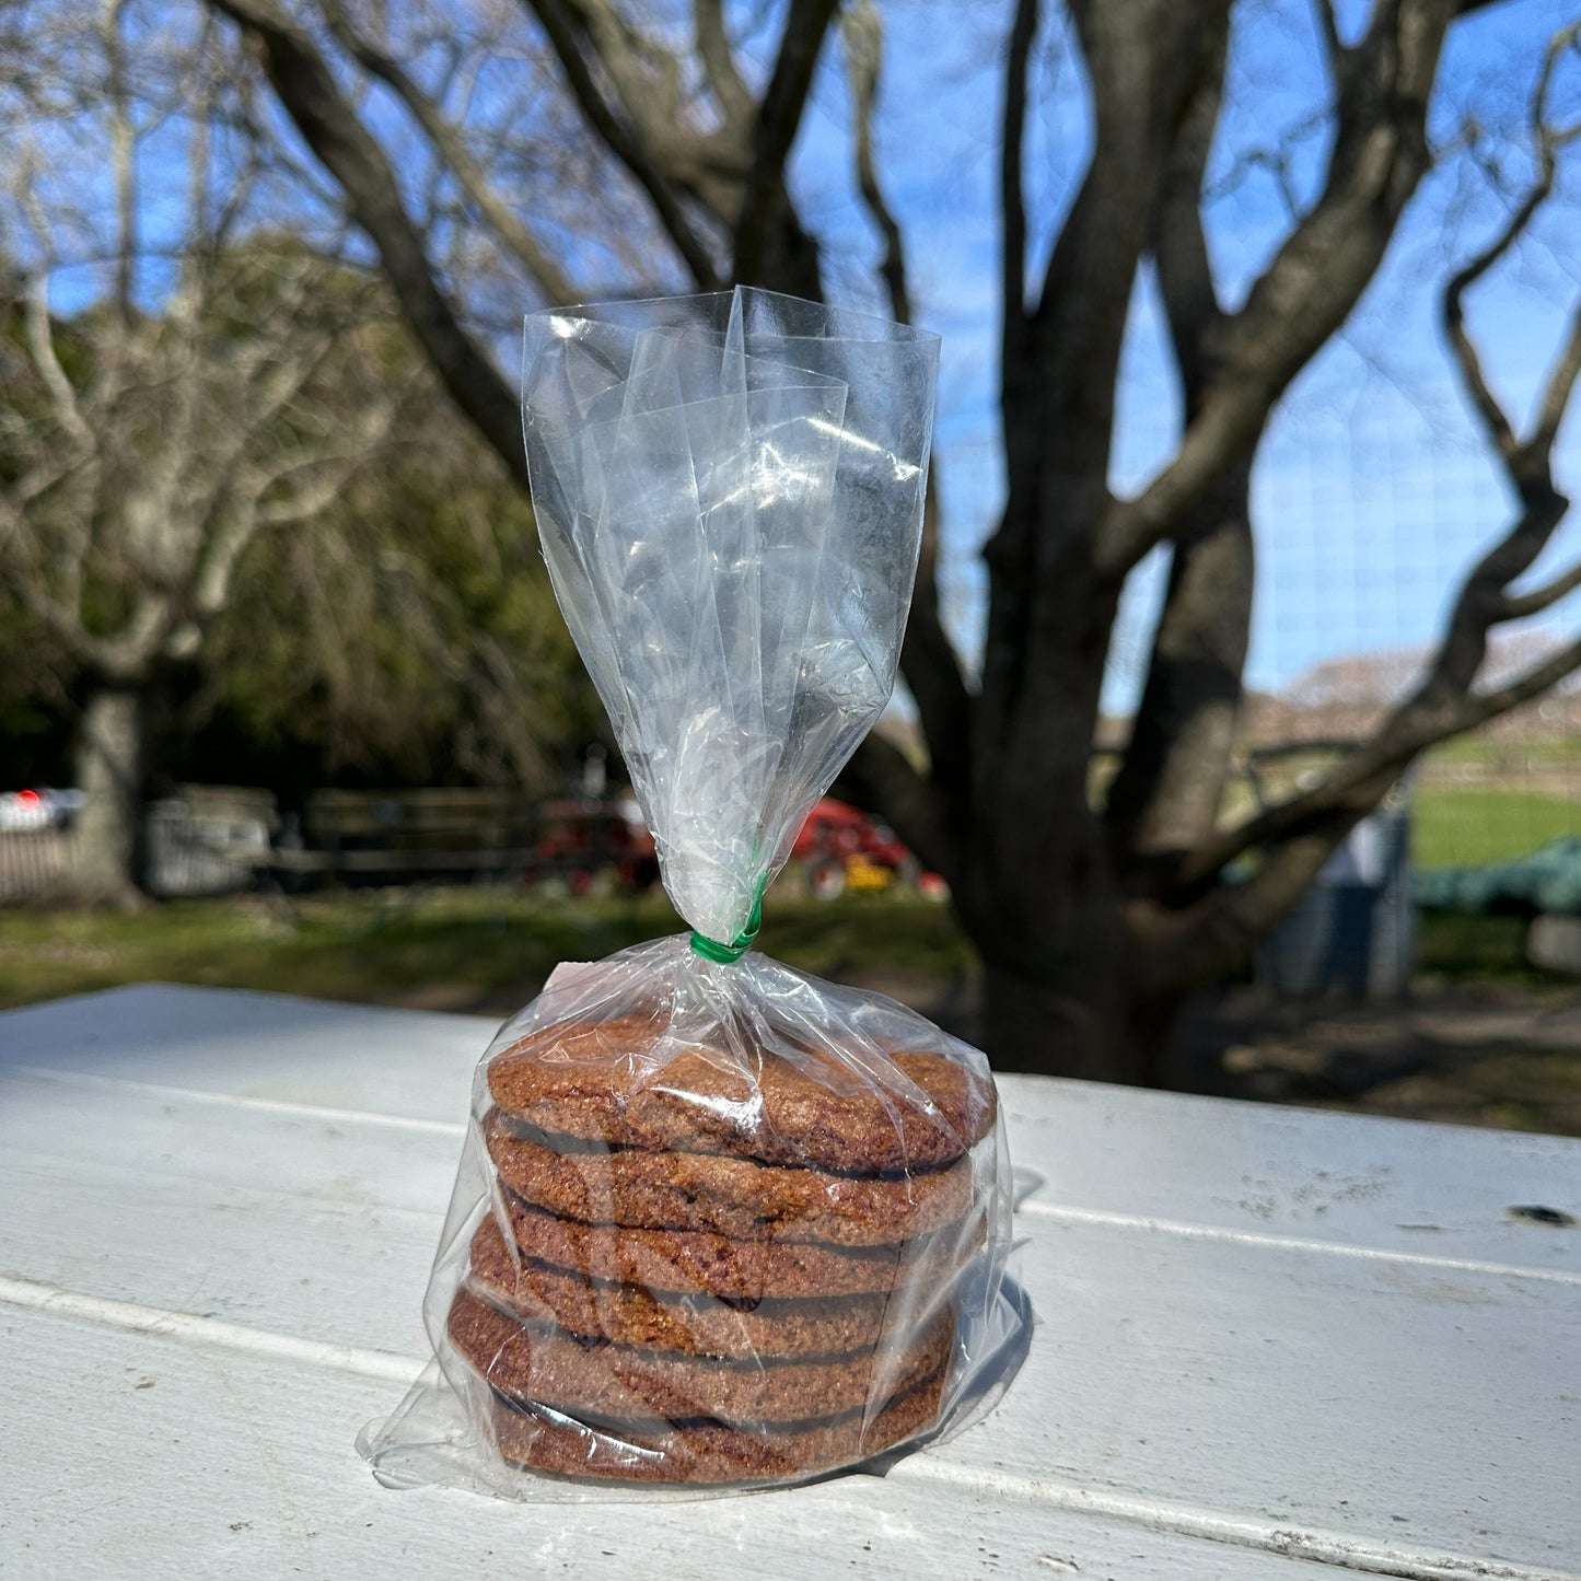
[[[560,968],[484,1055],[435,1361],[359,1440],[386,1483],[795,1481],[1007,1377],[1028,1314],[987,1061],[751,952],[893,688],[936,360],[745,289],[526,321],[544,553],[694,931]]]

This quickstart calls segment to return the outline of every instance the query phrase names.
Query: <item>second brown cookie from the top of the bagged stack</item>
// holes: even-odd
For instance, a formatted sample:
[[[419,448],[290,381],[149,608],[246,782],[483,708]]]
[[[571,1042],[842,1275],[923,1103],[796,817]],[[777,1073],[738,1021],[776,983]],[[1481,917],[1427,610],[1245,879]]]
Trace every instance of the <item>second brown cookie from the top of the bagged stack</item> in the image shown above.
[[[517,1197],[583,1224],[884,1246],[953,1224],[972,1200],[971,1159],[926,1175],[851,1176],[523,1135],[498,1110],[484,1116],[482,1130],[500,1179]]]

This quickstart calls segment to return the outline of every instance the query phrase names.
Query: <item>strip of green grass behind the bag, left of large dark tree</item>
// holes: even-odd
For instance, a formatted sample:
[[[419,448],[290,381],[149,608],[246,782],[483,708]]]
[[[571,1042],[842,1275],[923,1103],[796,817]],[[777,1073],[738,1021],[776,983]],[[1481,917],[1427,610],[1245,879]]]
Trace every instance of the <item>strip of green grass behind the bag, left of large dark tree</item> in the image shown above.
[[[171,901],[134,915],[0,911],[0,1009],[149,980],[508,1009],[558,961],[680,926],[659,895],[555,901],[489,889]],[[776,901],[760,944],[824,977],[947,980],[971,961],[949,907],[884,895]]]

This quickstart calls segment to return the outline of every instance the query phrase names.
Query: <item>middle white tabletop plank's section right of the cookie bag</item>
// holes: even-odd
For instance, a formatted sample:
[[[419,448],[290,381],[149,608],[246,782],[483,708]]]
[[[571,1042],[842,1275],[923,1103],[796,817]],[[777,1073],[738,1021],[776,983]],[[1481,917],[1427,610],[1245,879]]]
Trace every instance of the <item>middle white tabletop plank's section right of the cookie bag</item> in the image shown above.
[[[1401,1573],[1575,1568],[1581,1282],[1031,1228],[1028,1361],[952,1461],[1328,1532]]]

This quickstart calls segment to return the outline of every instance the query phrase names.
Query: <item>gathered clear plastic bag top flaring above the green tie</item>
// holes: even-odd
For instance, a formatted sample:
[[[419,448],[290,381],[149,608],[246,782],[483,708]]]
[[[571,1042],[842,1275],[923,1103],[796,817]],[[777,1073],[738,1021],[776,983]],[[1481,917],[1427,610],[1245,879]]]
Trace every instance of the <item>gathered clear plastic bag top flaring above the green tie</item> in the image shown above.
[[[544,558],[705,960],[889,702],[936,372],[923,330],[765,291],[526,319]]]

